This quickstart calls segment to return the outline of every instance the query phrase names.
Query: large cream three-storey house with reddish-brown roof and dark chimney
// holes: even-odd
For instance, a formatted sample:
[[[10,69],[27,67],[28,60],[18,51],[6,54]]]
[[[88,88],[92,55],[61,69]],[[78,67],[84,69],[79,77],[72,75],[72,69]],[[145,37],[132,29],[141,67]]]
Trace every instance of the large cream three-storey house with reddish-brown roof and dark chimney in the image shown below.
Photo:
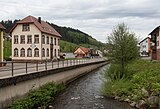
[[[13,61],[43,61],[59,57],[59,40],[62,37],[53,27],[27,16],[11,29]]]

